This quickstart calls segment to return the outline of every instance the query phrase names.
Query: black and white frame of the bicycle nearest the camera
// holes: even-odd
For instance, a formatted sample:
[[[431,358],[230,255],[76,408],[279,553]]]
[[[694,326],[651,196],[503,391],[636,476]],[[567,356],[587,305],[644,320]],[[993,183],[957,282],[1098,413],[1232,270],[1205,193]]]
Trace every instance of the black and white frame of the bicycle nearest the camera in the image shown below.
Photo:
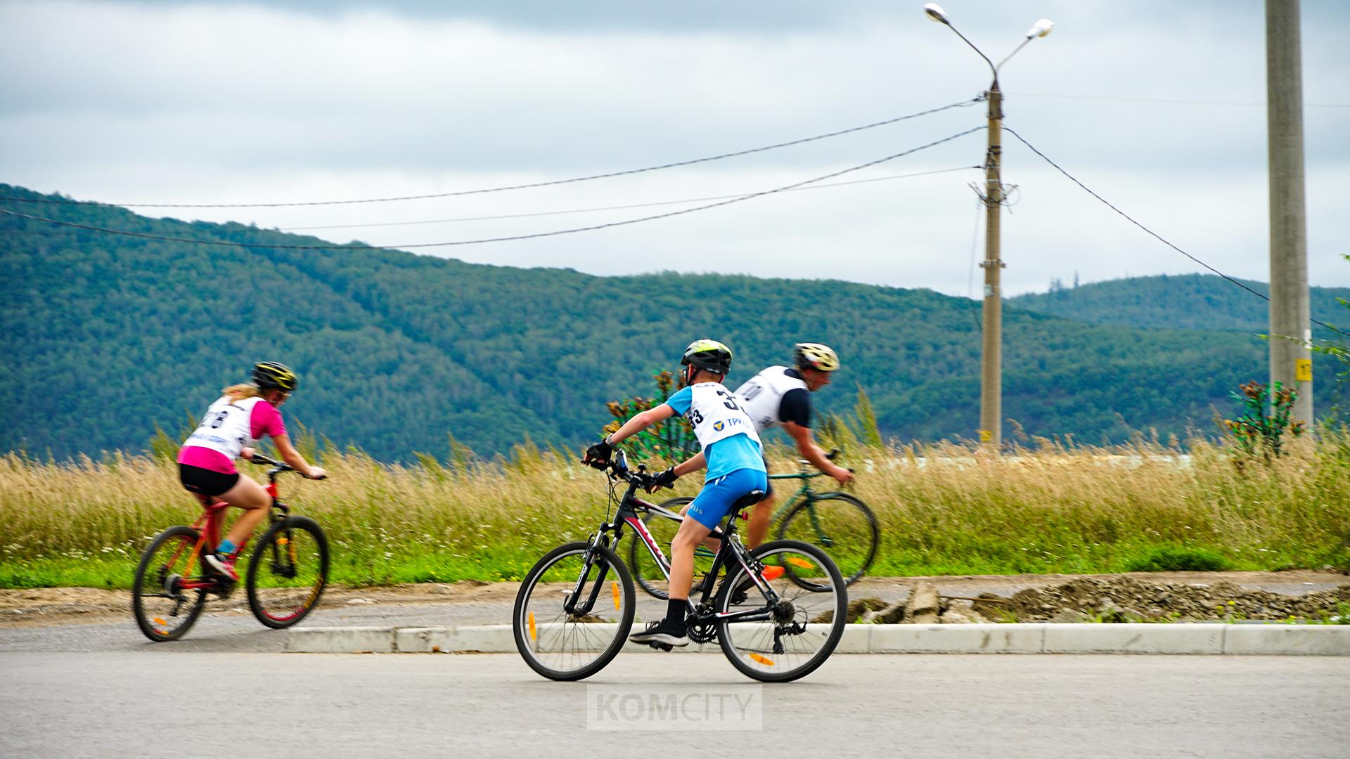
[[[651,504],[648,501],[636,497],[634,493],[637,492],[637,488],[639,482],[630,479],[628,483],[628,492],[624,494],[624,500],[618,505],[618,513],[614,515],[614,521],[612,523],[608,521],[601,524],[595,535],[591,536],[590,544],[603,546],[606,548],[617,546],[618,542],[624,538],[624,525],[626,524],[633,528],[633,532],[637,535],[637,539],[640,539],[643,544],[647,546],[647,551],[651,552],[652,559],[656,562],[656,566],[660,567],[662,574],[664,574],[666,579],[670,581],[671,577],[670,562],[666,559],[666,554],[656,543],[656,539],[652,538],[652,533],[651,531],[647,529],[647,525],[643,524],[643,520],[639,517],[639,515],[653,513],[663,519],[670,519],[675,521],[682,521],[684,517],[682,517],[675,512],[671,512],[670,509],[664,509],[662,506],[657,506],[656,504]],[[738,612],[713,612],[710,614],[699,613],[699,608],[710,608],[716,586],[714,582],[705,582],[702,589],[702,596],[698,604],[694,602],[694,598],[688,598],[686,601],[688,604],[690,612],[694,614],[695,624],[707,624],[718,620],[726,620],[726,621],[768,620],[772,616],[770,609],[778,604],[778,594],[774,592],[772,587],[770,587],[767,582],[764,582],[764,579],[759,575],[759,571],[751,567],[751,563],[747,560],[749,555],[745,551],[745,548],[741,547],[740,539],[736,536],[736,529],[734,529],[734,523],[738,516],[740,516],[738,512],[733,511],[732,516],[726,523],[726,529],[722,529],[721,527],[714,527],[713,532],[709,535],[709,538],[720,540],[721,546],[717,551],[717,555],[713,556],[713,566],[711,569],[709,569],[707,577],[716,578],[718,570],[721,570],[724,565],[728,567],[732,566],[732,559],[734,559],[736,563],[738,563],[745,570],[747,577],[749,577],[755,582],[755,585],[760,589],[760,592],[764,593],[764,597],[768,600],[768,605],[763,609],[744,609]],[[594,554],[589,554],[586,558],[585,570],[582,571],[582,575],[576,579],[576,585],[574,586],[572,592],[567,596],[567,602],[563,605],[563,609],[568,614],[583,616],[590,613],[590,610],[595,605],[597,598],[599,597],[599,589],[605,583],[605,574],[608,571],[606,567],[601,569],[599,575],[595,578],[595,583],[591,587],[590,596],[586,598],[586,602],[582,606],[578,606],[574,602],[574,600],[579,597],[580,590],[586,583],[586,579],[590,577],[593,565],[594,565]]]

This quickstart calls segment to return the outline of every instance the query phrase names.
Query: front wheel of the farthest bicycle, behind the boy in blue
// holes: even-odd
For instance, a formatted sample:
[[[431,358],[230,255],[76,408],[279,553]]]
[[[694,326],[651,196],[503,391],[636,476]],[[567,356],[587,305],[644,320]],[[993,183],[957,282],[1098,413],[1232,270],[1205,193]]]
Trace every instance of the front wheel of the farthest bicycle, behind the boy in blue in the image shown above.
[[[876,515],[848,493],[819,493],[803,498],[778,525],[780,540],[801,540],[821,547],[840,567],[844,582],[853,585],[876,559],[882,528]],[[788,577],[805,582],[787,567]]]

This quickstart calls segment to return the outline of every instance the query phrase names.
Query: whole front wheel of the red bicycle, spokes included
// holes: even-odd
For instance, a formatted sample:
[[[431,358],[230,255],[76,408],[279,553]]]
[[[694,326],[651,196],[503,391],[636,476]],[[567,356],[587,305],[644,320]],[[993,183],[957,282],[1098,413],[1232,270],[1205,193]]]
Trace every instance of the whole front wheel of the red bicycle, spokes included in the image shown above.
[[[248,562],[248,608],[262,624],[288,628],[305,619],[328,582],[328,536],[306,516],[273,523]]]

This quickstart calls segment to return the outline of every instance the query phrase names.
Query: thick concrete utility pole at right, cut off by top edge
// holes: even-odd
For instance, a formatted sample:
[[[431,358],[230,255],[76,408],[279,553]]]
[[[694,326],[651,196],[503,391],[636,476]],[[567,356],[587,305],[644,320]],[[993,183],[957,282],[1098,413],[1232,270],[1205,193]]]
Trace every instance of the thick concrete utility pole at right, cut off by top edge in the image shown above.
[[[1312,320],[1303,182],[1299,0],[1266,0],[1270,153],[1270,384],[1299,386],[1293,419],[1312,423]],[[1292,339],[1289,339],[1292,338]]]

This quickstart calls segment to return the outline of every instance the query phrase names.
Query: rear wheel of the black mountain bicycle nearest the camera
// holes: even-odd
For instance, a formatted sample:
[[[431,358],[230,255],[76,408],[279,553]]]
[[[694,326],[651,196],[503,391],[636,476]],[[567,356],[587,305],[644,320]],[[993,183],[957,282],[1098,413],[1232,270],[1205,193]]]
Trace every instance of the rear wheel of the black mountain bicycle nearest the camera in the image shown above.
[[[803,586],[787,573],[767,581],[778,601],[751,581],[745,569],[729,571],[713,609],[718,614],[763,609],[763,619],[717,621],[722,654],[741,674],[763,682],[788,682],[805,677],[834,652],[848,623],[848,589],[825,551],[798,540],[775,540],[751,551],[768,567],[791,566],[806,579]],[[751,562],[753,567],[756,562]]]

